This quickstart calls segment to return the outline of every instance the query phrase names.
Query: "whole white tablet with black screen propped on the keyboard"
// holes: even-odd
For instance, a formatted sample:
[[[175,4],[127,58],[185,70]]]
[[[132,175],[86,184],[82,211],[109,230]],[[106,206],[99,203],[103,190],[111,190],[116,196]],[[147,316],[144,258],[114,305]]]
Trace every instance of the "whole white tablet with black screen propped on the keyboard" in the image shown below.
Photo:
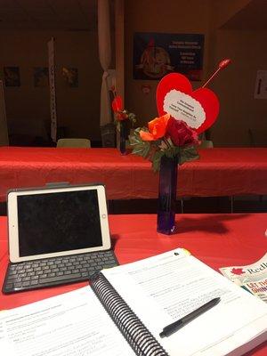
[[[12,263],[110,248],[101,184],[10,190],[7,212]]]

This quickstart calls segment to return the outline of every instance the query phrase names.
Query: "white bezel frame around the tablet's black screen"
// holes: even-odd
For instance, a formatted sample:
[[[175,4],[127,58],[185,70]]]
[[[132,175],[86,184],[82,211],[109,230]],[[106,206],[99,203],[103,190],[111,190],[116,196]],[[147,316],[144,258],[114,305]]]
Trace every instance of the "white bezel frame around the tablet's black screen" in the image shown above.
[[[53,192],[66,192],[77,190],[97,190],[98,205],[100,210],[100,223],[101,223],[101,238],[102,246],[82,248],[77,250],[61,251],[50,254],[42,255],[28,255],[20,257],[19,249],[19,229],[18,229],[18,200],[17,198],[22,195],[32,194],[48,194]],[[111,247],[110,235],[109,235],[109,218],[108,208],[105,194],[105,187],[103,185],[69,185],[66,187],[54,187],[54,188],[35,188],[28,190],[10,190],[7,194],[7,215],[8,215],[8,240],[9,240],[9,255],[12,263],[20,263],[23,261],[39,260],[42,258],[77,255],[94,251],[104,251]]]

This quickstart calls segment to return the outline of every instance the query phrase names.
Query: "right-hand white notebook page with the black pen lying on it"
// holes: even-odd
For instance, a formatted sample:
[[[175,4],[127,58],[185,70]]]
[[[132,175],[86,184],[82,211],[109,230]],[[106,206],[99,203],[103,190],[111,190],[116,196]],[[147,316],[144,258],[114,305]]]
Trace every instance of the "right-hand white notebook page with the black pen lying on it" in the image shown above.
[[[185,250],[177,251],[102,273],[171,356],[220,356],[242,344],[248,343],[249,350],[263,342],[267,305]],[[222,300],[214,308],[172,336],[159,337],[166,325],[217,296]],[[250,344],[257,335],[261,340]]]

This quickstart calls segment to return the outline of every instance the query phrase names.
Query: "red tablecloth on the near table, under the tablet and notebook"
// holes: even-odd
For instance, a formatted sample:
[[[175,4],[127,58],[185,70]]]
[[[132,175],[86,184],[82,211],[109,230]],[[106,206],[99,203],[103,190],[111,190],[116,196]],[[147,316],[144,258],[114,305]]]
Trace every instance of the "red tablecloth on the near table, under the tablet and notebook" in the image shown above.
[[[6,223],[6,217],[0,217],[1,286],[8,263]],[[170,236],[158,234],[156,224],[156,214],[109,215],[111,239],[120,264],[184,247],[218,271],[223,266],[255,263],[267,250],[267,214],[176,214],[177,231]],[[0,292],[0,309],[36,302],[86,284],[76,283],[13,295]],[[265,343],[246,356],[266,354]]]

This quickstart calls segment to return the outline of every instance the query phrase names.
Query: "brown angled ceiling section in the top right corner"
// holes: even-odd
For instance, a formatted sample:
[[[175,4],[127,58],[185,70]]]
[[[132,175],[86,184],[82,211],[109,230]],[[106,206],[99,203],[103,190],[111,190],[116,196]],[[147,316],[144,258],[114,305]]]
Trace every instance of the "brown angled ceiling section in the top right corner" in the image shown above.
[[[252,0],[228,20],[224,29],[267,30],[267,0]]]

